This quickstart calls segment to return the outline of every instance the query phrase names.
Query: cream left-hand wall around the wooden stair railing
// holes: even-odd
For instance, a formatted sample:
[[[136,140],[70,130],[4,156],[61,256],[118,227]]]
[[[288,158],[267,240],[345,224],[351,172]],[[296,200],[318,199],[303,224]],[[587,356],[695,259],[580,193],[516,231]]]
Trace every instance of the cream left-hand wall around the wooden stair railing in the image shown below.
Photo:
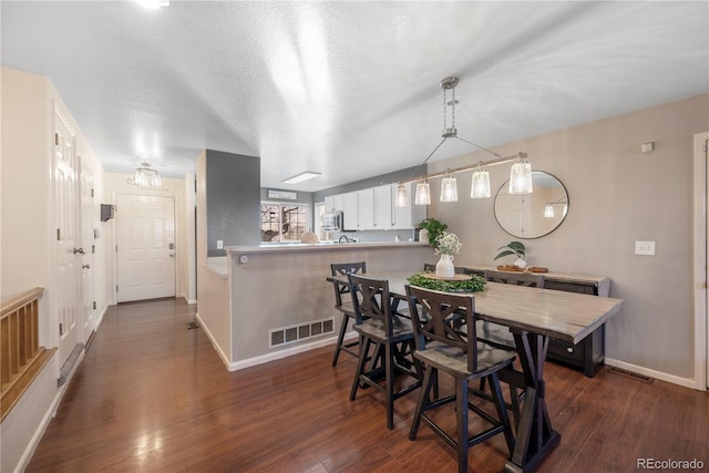
[[[101,195],[103,166],[71,120],[52,84],[42,76],[1,70],[2,161],[0,226],[2,299],[35,286],[44,287],[40,300],[40,345],[56,347],[59,319],[53,309],[55,294],[56,223],[53,202],[52,155],[54,107],[76,131],[76,152],[94,173],[95,195]],[[104,261],[94,260],[94,274],[105,273]],[[105,309],[105,292],[96,291],[97,313]],[[23,465],[39,441],[61,399],[65,385],[56,387],[60,372],[54,356],[4,419],[0,429],[0,471]]]

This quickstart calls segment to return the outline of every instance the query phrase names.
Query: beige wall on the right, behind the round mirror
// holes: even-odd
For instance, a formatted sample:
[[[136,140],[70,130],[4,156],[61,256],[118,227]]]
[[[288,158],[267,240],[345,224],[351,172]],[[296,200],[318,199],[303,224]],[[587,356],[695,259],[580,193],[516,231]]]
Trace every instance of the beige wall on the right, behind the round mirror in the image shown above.
[[[566,220],[551,235],[523,240],[532,265],[554,271],[608,276],[624,299],[606,330],[606,357],[670,381],[693,385],[692,135],[709,130],[709,95],[655,106],[516,143],[532,168],[558,177],[569,195]],[[530,117],[534,120],[534,117]],[[475,141],[464,127],[462,137]],[[655,151],[640,145],[655,142]],[[483,152],[430,164],[436,172],[489,160]],[[494,193],[510,166],[491,167]],[[496,224],[493,199],[467,197],[470,173],[459,175],[459,202],[433,202],[429,215],[463,241],[456,264],[493,261],[517,239]],[[440,179],[431,183],[438,195]],[[636,256],[635,240],[656,241],[656,256]]]

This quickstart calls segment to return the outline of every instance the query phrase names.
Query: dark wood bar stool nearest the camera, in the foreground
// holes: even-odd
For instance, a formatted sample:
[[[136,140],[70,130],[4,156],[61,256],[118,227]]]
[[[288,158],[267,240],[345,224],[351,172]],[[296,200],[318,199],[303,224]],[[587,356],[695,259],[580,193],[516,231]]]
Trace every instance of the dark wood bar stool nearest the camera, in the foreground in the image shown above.
[[[512,364],[515,354],[477,342],[473,296],[439,292],[413,286],[407,286],[407,296],[415,333],[417,349],[413,357],[424,367],[423,387],[419,393],[409,439],[415,440],[423,421],[445,443],[455,449],[458,470],[461,473],[467,472],[467,449],[499,433],[504,434],[512,454],[514,438],[497,373]],[[439,398],[433,393],[434,380],[440,372],[455,379],[454,394]],[[486,379],[492,388],[497,418],[470,402],[469,383],[479,379]],[[451,402],[455,402],[454,434],[446,432],[428,414],[429,411]],[[471,436],[471,410],[492,426]]]

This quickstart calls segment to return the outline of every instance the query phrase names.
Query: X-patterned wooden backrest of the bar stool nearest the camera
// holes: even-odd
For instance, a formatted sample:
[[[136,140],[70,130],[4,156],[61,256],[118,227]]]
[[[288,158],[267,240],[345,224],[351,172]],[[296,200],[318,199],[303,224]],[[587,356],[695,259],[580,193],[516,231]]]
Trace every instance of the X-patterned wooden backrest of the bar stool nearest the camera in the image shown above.
[[[443,343],[451,357],[465,357],[469,372],[477,370],[475,297],[407,285],[417,350]]]

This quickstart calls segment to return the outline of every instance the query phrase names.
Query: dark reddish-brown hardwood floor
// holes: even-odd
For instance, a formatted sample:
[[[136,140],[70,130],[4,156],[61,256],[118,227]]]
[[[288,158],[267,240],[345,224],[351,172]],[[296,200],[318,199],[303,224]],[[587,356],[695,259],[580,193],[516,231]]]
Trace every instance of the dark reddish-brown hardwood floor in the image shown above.
[[[194,307],[157,300],[112,307],[71,380],[28,472],[453,472],[430,429],[409,441],[417,393],[395,428],[373,390],[349,400],[354,359],[331,347],[228,372]],[[540,472],[628,472],[637,459],[709,469],[709,395],[608,369],[596,378],[546,364],[549,415],[562,443]],[[451,418],[452,418],[451,412]],[[499,472],[496,436],[470,470]]]

